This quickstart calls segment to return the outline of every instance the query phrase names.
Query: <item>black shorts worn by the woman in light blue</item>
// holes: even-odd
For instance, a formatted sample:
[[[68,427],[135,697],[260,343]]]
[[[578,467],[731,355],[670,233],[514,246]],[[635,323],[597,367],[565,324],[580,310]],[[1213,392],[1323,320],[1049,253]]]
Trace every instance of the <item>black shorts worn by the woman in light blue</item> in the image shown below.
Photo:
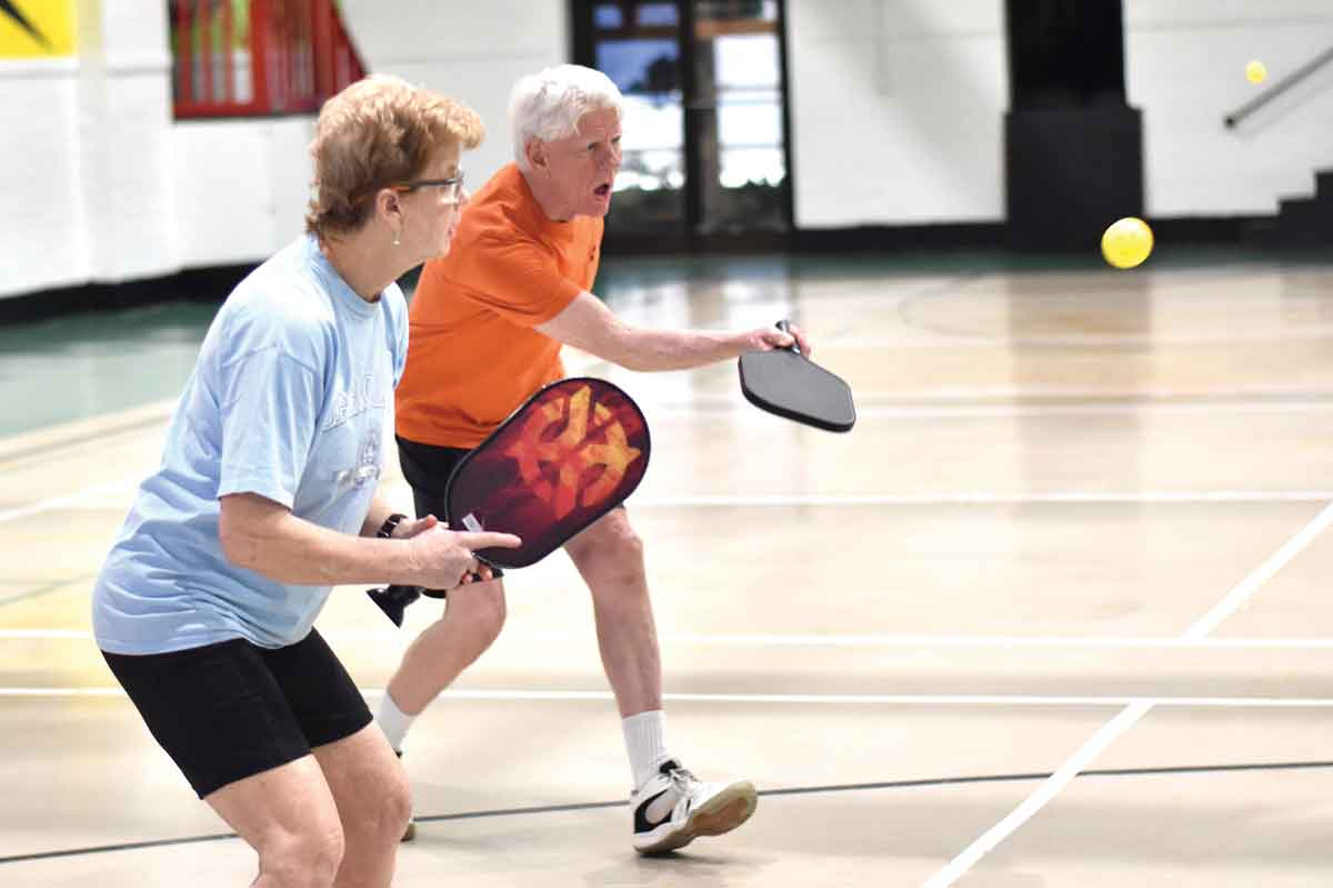
[[[200,799],[371,724],[365,699],[315,629],[273,651],[235,639],[103,657]]]

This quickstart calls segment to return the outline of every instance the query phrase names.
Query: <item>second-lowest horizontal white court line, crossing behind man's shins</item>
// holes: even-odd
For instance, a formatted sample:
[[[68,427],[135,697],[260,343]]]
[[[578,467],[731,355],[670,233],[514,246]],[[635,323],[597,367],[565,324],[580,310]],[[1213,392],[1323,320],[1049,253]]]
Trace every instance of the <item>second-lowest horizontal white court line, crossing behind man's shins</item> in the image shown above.
[[[403,632],[328,631],[328,641],[392,643]],[[1078,636],[1078,635],[705,635],[669,633],[657,636],[664,644],[716,648],[976,648],[976,649],[1254,649],[1254,651],[1329,651],[1333,639],[1320,637],[1225,637],[1188,639],[1181,636]],[[593,644],[596,636],[581,632],[512,632],[500,644]],[[87,629],[0,628],[0,641],[92,641]]]

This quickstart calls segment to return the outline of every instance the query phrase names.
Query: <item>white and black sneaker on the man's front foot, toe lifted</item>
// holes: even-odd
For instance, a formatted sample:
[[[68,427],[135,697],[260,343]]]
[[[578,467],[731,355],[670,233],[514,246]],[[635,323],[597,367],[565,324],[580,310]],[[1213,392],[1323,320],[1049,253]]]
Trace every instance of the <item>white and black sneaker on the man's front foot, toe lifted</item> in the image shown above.
[[[700,783],[678,761],[659,772],[629,797],[635,809],[635,851],[657,855],[682,848],[698,836],[720,836],[754,813],[758,793],[749,780]]]

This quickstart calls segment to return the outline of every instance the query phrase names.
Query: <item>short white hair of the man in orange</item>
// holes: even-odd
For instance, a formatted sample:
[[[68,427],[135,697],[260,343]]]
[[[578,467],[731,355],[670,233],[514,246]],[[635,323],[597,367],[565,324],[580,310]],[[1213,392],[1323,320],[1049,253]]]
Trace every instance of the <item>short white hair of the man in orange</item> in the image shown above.
[[[591,111],[615,111],[624,116],[620,89],[611,77],[583,65],[556,65],[528,75],[509,93],[509,131],[513,159],[528,172],[528,143],[555,141],[579,132],[579,121]]]

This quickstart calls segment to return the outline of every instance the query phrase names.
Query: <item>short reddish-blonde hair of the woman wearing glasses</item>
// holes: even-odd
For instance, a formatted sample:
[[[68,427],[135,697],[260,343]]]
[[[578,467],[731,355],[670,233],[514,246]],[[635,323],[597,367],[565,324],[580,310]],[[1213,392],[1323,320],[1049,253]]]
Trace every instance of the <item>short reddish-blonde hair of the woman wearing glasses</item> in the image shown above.
[[[391,75],[353,83],[324,103],[315,123],[305,231],[320,237],[357,231],[379,189],[419,177],[445,145],[471,149],[484,137],[481,117],[453,99]]]

